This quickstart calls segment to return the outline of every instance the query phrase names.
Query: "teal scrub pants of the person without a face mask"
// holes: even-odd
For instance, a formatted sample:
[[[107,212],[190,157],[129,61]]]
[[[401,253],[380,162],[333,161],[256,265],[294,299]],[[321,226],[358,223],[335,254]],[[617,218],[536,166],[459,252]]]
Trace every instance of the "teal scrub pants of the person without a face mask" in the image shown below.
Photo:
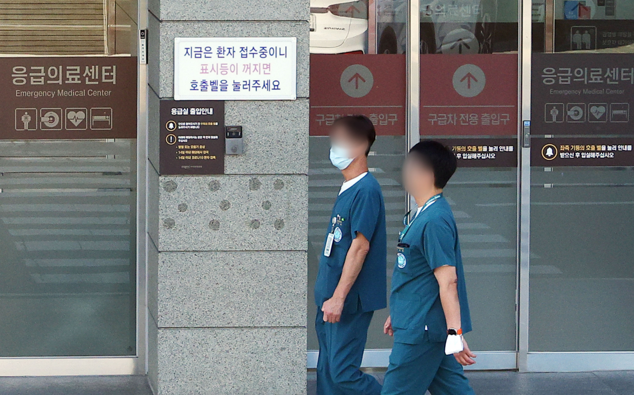
[[[395,339],[398,340],[398,339]],[[394,342],[382,395],[475,395],[462,365],[444,354],[443,342]]]

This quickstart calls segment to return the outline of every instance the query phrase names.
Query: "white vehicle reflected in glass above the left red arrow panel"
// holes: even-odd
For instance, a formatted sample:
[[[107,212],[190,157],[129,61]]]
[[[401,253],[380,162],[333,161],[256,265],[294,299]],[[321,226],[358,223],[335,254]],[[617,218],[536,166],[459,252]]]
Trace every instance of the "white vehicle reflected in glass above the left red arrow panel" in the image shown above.
[[[367,53],[367,47],[367,0],[311,0],[311,53]]]

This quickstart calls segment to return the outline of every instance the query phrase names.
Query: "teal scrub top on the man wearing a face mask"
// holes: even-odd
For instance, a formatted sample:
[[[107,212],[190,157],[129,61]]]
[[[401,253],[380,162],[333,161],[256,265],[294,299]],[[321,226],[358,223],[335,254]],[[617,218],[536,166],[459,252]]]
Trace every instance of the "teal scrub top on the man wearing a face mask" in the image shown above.
[[[336,223],[333,228],[332,219]],[[339,284],[346,254],[359,232],[370,241],[370,252],[344,303],[344,314],[384,309],[387,307],[387,236],[385,235],[385,204],[377,179],[372,174],[343,191],[332,209],[328,233],[334,230],[330,257],[321,248],[319,272],[315,283],[315,303],[321,308]]]

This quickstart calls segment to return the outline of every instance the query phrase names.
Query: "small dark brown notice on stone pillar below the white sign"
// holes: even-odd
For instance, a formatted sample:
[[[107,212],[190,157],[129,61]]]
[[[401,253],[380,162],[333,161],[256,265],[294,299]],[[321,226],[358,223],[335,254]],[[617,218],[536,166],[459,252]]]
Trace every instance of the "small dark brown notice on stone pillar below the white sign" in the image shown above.
[[[160,102],[160,174],[224,174],[224,101]]]

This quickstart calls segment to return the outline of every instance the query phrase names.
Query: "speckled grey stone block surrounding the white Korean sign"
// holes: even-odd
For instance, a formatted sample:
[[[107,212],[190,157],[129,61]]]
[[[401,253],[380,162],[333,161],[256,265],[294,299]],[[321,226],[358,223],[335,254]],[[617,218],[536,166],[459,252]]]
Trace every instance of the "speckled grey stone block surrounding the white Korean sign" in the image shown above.
[[[297,97],[308,97],[308,22],[159,22],[150,15],[149,25],[149,82],[160,98],[174,96],[174,37],[297,37]]]

